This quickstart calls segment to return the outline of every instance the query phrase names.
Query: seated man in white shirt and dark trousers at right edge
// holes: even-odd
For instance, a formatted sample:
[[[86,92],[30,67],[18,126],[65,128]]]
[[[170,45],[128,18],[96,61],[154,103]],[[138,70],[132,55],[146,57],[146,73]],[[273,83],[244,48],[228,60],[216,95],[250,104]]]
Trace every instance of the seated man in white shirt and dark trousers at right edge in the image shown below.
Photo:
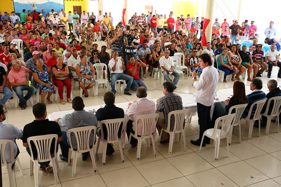
[[[279,61],[279,52],[275,50],[275,44],[270,45],[270,50],[266,51],[265,56],[268,64],[268,76],[271,76],[271,70],[273,66],[278,66],[279,71],[277,74],[278,78],[281,78],[281,62]]]

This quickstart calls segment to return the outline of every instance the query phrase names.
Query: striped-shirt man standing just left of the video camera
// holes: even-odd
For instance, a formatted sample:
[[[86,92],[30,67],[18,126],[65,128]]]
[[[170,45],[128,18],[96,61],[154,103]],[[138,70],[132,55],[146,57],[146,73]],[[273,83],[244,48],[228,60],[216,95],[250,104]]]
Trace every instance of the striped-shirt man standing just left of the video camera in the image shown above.
[[[123,37],[122,29],[118,28],[118,32],[113,31],[111,33],[111,45],[112,45],[112,51],[117,51],[119,56],[122,56],[123,53],[123,44],[121,43],[121,40],[124,40],[124,45],[128,45],[128,39],[126,36]]]

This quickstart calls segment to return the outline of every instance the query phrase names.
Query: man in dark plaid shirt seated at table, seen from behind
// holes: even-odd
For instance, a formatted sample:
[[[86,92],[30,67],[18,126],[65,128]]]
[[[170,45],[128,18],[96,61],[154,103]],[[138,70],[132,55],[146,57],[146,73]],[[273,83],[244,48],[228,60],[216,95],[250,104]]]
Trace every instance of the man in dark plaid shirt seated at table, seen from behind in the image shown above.
[[[163,118],[158,118],[156,123],[156,128],[160,134],[161,129],[167,129],[167,122],[168,122],[168,114],[175,110],[183,110],[182,100],[181,97],[175,94],[174,91],[175,84],[171,81],[166,81],[163,83],[163,93],[165,96],[161,97],[160,99],[156,100],[156,108],[159,112],[162,112],[164,115]],[[170,124],[170,131],[174,130],[175,125],[175,117],[171,116],[171,124]],[[185,127],[185,122],[183,124]],[[162,136],[160,137],[160,143],[169,143],[170,134],[166,133],[165,131],[162,132]],[[173,137],[171,137],[173,138]]]

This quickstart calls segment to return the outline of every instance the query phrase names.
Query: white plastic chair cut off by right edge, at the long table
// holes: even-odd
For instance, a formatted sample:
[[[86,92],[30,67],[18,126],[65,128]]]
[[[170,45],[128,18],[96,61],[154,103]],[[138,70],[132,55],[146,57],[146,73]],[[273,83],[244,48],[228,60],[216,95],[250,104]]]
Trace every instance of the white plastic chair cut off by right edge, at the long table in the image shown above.
[[[270,108],[270,109],[272,109],[271,113],[268,115],[269,106],[270,106],[271,102],[274,102],[274,104],[273,104],[272,108]],[[263,114],[261,114],[262,116],[267,117],[265,134],[269,133],[271,117],[274,117],[274,116],[277,117],[277,119],[276,119],[276,121],[278,121],[278,125],[277,125],[278,131],[277,132],[279,133],[279,108],[280,108],[280,106],[281,106],[281,96],[273,97],[268,100],[265,112]]]

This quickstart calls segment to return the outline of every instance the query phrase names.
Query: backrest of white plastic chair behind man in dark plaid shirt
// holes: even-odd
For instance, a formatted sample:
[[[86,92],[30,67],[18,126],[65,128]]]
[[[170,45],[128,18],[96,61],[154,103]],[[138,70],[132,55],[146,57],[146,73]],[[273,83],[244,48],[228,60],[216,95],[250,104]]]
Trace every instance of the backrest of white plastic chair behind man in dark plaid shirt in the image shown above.
[[[170,129],[170,125],[171,125],[171,117],[172,115],[175,118],[175,125],[174,125],[174,133],[179,133],[182,132],[183,129],[183,123],[185,120],[185,116],[187,115],[187,113],[189,113],[190,110],[189,109],[183,109],[183,110],[175,110],[172,111],[168,114],[168,124],[167,124],[167,129]]]

